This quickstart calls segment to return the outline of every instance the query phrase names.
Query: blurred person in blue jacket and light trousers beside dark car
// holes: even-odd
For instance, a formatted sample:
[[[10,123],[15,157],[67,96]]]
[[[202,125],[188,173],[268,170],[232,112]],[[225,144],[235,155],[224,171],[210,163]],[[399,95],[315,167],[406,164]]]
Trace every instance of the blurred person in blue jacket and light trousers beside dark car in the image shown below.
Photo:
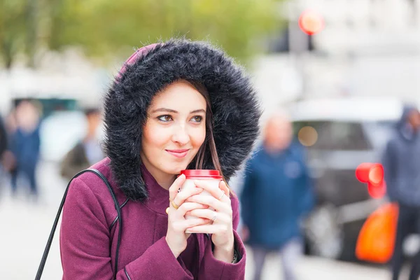
[[[277,113],[267,121],[262,147],[249,160],[241,193],[246,244],[261,279],[268,253],[279,253],[283,279],[296,279],[295,265],[303,253],[300,222],[314,204],[304,149],[293,141],[288,116]]]

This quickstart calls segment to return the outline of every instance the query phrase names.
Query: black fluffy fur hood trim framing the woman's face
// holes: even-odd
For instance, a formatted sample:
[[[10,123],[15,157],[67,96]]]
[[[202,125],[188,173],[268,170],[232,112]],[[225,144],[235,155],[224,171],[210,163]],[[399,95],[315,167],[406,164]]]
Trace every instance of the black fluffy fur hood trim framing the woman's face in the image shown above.
[[[223,175],[229,180],[258,137],[260,107],[251,81],[221,50],[186,39],[141,48],[127,60],[104,97],[104,150],[113,180],[131,200],[144,201],[141,136],[153,96],[179,79],[202,83],[211,99],[214,140]],[[211,159],[205,169],[214,169]]]

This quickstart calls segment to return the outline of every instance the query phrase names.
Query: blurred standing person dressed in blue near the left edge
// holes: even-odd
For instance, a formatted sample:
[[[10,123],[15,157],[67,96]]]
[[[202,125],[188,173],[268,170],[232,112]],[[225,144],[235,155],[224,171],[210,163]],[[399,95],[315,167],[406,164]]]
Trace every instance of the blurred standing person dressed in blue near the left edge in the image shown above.
[[[11,169],[12,194],[18,190],[18,178],[24,176],[29,181],[30,194],[38,197],[36,184],[36,165],[39,160],[40,112],[34,103],[24,100],[15,109],[16,127],[10,137],[10,152],[13,154]]]

